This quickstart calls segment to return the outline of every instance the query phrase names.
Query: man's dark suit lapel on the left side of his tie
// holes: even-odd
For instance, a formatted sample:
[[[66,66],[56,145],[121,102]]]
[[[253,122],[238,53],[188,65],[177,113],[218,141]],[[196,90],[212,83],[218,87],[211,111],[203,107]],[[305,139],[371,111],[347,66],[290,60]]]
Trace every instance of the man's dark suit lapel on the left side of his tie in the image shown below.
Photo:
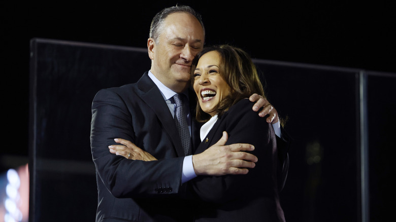
[[[175,121],[171,112],[167,112],[169,108],[167,103],[163,100],[161,92],[154,82],[148,77],[147,73],[148,72],[144,73],[143,77],[138,81],[138,88],[141,90],[140,97],[153,110],[155,115],[157,115],[164,131],[166,131],[171,138],[177,155],[179,157],[183,157],[183,146],[181,144]]]

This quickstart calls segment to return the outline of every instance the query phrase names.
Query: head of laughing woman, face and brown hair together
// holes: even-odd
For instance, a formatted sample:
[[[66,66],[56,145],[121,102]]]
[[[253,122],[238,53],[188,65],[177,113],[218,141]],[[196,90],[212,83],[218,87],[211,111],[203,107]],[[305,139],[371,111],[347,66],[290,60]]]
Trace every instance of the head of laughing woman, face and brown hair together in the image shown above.
[[[197,95],[197,120],[221,116],[230,106],[257,93],[265,98],[250,56],[228,46],[206,47],[192,62],[191,82]]]

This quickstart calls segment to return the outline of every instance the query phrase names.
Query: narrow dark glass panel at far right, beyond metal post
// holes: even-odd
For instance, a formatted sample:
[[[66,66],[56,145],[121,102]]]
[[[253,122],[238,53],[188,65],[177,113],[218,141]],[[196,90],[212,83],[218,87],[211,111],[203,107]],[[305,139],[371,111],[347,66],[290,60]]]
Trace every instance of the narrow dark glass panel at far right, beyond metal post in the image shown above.
[[[395,157],[396,75],[368,72],[369,193],[371,221],[386,221],[392,215],[396,187],[392,159]]]

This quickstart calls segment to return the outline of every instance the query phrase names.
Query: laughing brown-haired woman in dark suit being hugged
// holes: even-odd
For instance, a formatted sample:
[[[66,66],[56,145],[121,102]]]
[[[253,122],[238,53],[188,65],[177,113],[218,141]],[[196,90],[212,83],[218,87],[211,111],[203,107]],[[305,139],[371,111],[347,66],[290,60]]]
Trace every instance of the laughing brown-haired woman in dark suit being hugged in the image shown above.
[[[250,57],[228,45],[205,48],[192,62],[191,81],[197,95],[196,120],[206,122],[195,154],[204,152],[226,131],[226,144],[252,144],[252,154],[259,160],[245,175],[199,176],[189,181],[200,203],[195,221],[284,221],[275,133],[247,99],[253,93],[264,97]]]

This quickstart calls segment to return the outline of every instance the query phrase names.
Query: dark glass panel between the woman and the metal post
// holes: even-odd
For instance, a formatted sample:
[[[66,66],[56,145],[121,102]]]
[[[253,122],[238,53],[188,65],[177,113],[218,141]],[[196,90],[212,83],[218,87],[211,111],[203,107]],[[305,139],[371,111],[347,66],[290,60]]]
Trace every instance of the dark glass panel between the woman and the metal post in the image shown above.
[[[256,62],[293,137],[281,205],[286,221],[356,221],[358,70]]]

